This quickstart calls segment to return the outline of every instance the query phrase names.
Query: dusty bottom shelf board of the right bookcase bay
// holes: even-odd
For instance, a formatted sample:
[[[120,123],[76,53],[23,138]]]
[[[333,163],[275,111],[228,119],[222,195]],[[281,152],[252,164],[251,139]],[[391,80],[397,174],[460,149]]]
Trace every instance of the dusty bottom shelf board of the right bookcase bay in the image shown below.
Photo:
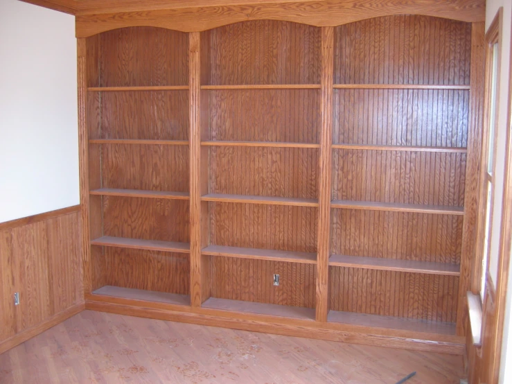
[[[327,321],[421,333],[437,333],[442,335],[456,334],[456,325],[454,323],[427,322],[426,320],[368,315],[367,313],[330,311],[327,315]]]

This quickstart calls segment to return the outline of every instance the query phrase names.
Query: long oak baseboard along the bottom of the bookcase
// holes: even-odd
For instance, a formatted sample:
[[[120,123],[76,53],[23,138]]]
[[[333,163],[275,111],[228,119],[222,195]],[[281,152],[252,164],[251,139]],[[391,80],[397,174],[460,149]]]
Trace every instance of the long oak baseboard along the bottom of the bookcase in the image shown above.
[[[461,342],[441,342],[432,340],[421,340],[419,338],[397,337],[396,335],[384,335],[376,333],[361,333],[353,331],[353,326],[342,326],[337,324],[337,329],[322,328],[316,322],[295,322],[285,324],[277,321],[249,320],[235,317],[224,317],[213,315],[214,311],[202,311],[194,313],[191,311],[173,311],[164,308],[148,308],[144,304],[126,305],[115,302],[105,302],[91,299],[92,295],[86,297],[85,309],[129,315],[136,317],[147,317],[159,320],[174,322],[185,322],[206,326],[218,326],[229,329],[240,329],[243,331],[273,333],[276,335],[295,336],[300,338],[312,338],[338,342],[349,342],[351,344],[365,344],[378,347],[391,347],[410,349],[415,351],[431,351],[442,354],[462,355],[464,353],[464,340]],[[119,302],[123,300],[119,299]],[[132,301],[133,302],[133,301]],[[261,317],[262,319],[264,317]],[[308,324],[309,323],[309,324]],[[376,329],[376,331],[378,331]]]

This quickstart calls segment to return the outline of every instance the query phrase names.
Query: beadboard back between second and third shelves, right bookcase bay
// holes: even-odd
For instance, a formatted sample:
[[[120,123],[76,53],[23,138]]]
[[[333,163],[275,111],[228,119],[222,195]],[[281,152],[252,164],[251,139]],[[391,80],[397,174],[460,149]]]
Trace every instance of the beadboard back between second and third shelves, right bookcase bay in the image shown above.
[[[466,154],[333,151],[333,198],[405,204],[464,205]]]

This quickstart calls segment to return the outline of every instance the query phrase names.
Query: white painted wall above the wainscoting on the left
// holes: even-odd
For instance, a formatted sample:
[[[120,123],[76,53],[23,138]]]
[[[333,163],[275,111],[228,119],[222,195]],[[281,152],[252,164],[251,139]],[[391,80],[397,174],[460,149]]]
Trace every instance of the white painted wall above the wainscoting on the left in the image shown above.
[[[0,222],[79,203],[75,18],[0,0]]]

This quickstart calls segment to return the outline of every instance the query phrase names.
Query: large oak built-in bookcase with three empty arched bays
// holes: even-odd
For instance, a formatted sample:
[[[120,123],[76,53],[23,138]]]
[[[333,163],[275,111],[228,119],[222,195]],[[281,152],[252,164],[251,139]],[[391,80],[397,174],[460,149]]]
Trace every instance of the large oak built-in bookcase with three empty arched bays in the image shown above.
[[[87,38],[87,299],[459,342],[471,28]]]

